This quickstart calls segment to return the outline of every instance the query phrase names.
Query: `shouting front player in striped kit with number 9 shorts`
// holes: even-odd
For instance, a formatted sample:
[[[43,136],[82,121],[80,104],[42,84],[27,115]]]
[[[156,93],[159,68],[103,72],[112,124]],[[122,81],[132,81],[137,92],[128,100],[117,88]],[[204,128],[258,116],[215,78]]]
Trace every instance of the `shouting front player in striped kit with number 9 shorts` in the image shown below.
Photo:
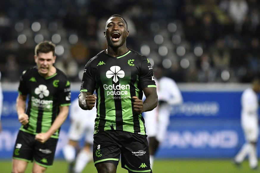
[[[90,59],[83,73],[79,105],[91,110],[96,103],[93,158],[99,173],[116,172],[120,155],[128,172],[152,172],[141,113],[157,106],[156,85],[147,57],[126,47],[128,34],[127,22],[110,16],[107,49]]]

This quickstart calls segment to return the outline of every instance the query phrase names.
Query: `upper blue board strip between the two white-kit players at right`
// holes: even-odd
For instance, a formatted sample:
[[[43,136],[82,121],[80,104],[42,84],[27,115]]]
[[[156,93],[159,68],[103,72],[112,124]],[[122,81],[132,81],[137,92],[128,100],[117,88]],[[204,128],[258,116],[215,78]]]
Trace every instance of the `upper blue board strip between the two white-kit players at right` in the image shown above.
[[[177,117],[239,118],[242,92],[183,91],[184,103],[172,108]]]

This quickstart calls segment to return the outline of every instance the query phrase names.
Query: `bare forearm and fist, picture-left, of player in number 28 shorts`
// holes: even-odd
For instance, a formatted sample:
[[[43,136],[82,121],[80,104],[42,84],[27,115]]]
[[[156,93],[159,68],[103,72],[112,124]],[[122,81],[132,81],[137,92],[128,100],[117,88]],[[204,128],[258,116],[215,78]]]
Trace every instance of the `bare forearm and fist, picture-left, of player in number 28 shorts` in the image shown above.
[[[18,97],[16,98],[16,111],[18,115],[18,120],[22,125],[26,125],[29,122],[29,117],[25,113],[26,110],[26,99],[27,95],[21,95],[18,93]]]

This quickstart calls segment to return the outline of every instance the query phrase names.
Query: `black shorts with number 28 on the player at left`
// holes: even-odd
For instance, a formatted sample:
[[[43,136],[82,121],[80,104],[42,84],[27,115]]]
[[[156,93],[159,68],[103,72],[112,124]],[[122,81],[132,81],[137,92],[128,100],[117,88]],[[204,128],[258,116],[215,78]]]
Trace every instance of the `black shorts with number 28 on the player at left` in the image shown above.
[[[35,135],[19,131],[15,141],[13,159],[35,161],[43,167],[52,166],[58,139],[50,138],[45,143],[35,140]]]

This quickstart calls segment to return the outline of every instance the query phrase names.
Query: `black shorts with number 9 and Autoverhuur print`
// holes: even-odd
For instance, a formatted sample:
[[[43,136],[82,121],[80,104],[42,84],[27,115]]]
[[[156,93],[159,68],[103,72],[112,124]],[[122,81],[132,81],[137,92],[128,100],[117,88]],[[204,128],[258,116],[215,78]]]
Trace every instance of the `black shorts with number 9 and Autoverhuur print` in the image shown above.
[[[108,130],[94,135],[94,164],[110,162],[117,167],[121,154],[122,168],[132,172],[150,172],[146,135]]]

